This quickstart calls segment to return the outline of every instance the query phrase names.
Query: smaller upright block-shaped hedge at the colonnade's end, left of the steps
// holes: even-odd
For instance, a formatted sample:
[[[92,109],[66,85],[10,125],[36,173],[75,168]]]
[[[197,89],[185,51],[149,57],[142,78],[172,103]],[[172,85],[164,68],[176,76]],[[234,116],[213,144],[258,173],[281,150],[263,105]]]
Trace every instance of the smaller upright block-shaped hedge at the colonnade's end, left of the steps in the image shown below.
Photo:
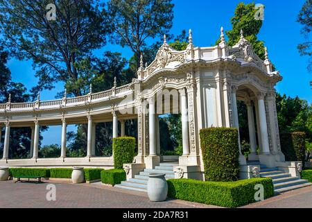
[[[135,157],[135,138],[117,137],[113,139],[114,167],[123,169],[123,164],[132,163]]]

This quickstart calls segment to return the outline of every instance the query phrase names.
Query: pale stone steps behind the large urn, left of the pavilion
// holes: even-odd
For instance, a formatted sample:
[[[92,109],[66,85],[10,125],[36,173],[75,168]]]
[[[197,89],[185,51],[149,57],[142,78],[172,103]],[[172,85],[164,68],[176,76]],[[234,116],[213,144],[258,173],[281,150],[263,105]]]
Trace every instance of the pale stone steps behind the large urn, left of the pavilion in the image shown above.
[[[178,164],[161,163],[159,164],[159,166],[155,167],[155,169],[144,169],[144,171],[141,171],[138,175],[135,176],[135,178],[123,181],[121,182],[120,185],[115,185],[114,187],[147,192],[147,182],[149,173],[165,173],[166,179],[173,179],[175,178],[173,167],[177,165]]]

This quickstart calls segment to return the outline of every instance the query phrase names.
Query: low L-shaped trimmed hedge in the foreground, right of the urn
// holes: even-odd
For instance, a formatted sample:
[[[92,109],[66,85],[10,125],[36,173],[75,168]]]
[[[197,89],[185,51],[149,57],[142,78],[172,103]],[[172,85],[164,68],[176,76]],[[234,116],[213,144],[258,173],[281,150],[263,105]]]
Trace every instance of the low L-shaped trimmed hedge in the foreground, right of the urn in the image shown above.
[[[168,196],[222,207],[239,207],[255,202],[255,185],[264,187],[264,198],[274,195],[271,178],[252,178],[235,182],[209,182],[191,179],[171,179]]]

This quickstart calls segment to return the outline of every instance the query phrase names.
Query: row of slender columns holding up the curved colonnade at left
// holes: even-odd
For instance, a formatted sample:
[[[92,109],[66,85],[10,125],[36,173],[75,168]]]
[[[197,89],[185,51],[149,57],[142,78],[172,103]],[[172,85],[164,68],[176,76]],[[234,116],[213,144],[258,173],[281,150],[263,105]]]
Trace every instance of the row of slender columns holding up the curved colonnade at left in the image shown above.
[[[116,112],[112,112],[113,115],[113,133],[112,137],[118,137],[118,118]],[[92,121],[92,116],[88,115],[88,127],[87,127],[87,157],[92,157],[95,155],[95,141],[96,141],[96,125]],[[3,143],[3,160],[8,159],[8,151],[10,144],[10,123],[6,123],[6,130]],[[0,138],[1,138],[0,130]],[[37,159],[38,157],[38,148],[39,148],[39,133],[40,125],[39,121],[35,121],[35,126],[31,127],[31,150],[30,157]],[[121,120],[121,137],[125,136],[125,120]],[[61,153],[60,157],[66,157],[66,144],[67,144],[67,122],[66,119],[62,119],[62,139],[61,139]]]

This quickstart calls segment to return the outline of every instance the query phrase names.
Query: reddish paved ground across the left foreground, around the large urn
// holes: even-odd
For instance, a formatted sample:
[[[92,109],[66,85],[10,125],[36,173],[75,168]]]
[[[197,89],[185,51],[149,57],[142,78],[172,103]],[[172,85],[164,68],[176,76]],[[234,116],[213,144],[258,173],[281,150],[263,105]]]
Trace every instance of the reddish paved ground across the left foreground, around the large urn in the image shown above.
[[[0,182],[0,208],[3,207],[121,207],[121,208],[191,208],[215,207],[183,200],[166,200],[153,203],[147,194],[125,191],[105,185],[73,185],[68,182],[53,181],[56,200],[47,201],[48,182],[42,184],[4,181]]]

